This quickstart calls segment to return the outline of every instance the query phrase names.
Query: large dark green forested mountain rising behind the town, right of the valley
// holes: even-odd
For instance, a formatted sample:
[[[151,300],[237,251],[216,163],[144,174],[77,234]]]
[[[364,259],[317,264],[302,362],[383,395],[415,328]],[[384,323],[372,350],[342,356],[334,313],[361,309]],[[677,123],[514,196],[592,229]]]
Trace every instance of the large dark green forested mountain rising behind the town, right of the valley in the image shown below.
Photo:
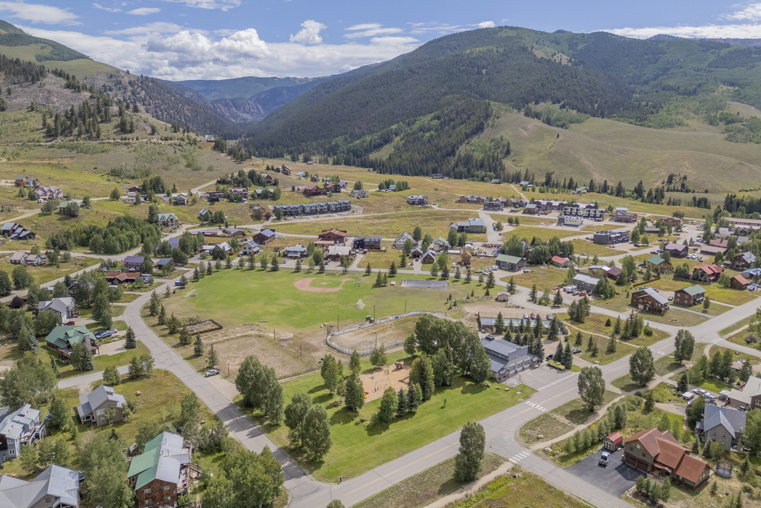
[[[501,171],[495,157],[509,153],[505,140],[479,153],[461,149],[463,133],[477,133],[492,114],[481,101],[557,126],[590,115],[673,127],[684,125],[677,105],[703,115],[724,110],[728,100],[761,107],[759,64],[756,48],[708,40],[472,30],[320,83],[255,126],[244,145],[254,155],[306,153],[384,172],[469,177]],[[559,111],[532,110],[540,103]],[[384,155],[376,152],[392,142]]]

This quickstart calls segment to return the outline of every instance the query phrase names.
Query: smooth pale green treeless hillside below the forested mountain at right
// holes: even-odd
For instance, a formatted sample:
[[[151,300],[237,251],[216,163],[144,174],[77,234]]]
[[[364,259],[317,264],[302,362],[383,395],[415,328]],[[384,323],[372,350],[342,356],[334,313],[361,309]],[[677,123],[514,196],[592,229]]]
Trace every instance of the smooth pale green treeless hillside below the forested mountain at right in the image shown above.
[[[718,127],[696,124],[701,128],[648,129],[590,118],[559,129],[521,113],[505,113],[479,138],[510,139],[512,153],[505,158],[508,171],[511,166],[521,171],[528,168],[537,177],[555,171],[561,180],[621,180],[626,187],[642,180],[650,187],[661,185],[674,173],[686,175],[689,187],[714,192],[761,183],[761,146],[728,142]],[[728,174],[732,177],[718,177]]]

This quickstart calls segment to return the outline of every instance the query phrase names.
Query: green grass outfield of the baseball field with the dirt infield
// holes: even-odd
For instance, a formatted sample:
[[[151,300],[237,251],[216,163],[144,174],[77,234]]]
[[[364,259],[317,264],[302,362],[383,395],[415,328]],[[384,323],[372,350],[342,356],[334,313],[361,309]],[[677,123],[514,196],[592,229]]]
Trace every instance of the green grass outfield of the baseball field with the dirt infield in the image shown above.
[[[403,278],[432,279],[430,276],[397,275],[389,279],[396,280],[396,286],[374,288],[376,273],[361,276],[361,285],[356,286],[355,274],[319,274],[293,273],[281,269],[269,270],[231,269],[221,270],[206,276],[196,283],[191,283],[185,291],[178,291],[169,299],[162,299],[167,314],[177,318],[195,318],[201,320],[215,319],[225,327],[242,323],[269,321],[269,326],[278,330],[299,330],[314,327],[326,321],[336,321],[340,314],[341,326],[365,321],[365,316],[374,315],[383,318],[388,315],[402,314],[405,309],[411,311],[449,312],[455,318],[462,313],[454,308],[448,310],[447,296],[462,298],[466,292],[476,289],[476,281],[466,284],[449,281],[448,289],[415,289],[400,287]],[[334,292],[310,292],[296,289],[294,283],[304,278],[314,278],[310,286],[315,288],[337,286],[342,279],[348,279],[341,289]],[[327,282],[328,286],[321,283]],[[183,298],[191,289],[196,289],[196,296]],[[365,303],[365,308],[356,308],[358,300]]]

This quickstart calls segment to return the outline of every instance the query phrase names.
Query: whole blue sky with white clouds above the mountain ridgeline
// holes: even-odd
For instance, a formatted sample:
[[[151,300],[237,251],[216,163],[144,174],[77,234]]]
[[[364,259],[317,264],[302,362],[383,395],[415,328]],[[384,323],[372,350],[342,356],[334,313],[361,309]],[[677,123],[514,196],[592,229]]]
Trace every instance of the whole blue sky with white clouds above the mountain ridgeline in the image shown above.
[[[171,80],[332,75],[446,34],[506,24],[638,38],[761,38],[761,2],[723,0],[44,2],[0,1],[0,18],[120,69]]]

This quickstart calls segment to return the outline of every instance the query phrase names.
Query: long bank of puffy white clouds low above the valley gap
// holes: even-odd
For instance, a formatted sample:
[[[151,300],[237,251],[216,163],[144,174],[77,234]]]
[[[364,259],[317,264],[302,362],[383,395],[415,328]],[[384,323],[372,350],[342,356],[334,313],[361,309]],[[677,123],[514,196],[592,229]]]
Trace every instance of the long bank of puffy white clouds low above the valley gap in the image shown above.
[[[332,75],[384,62],[419,46],[412,37],[374,37],[363,44],[267,43],[253,28],[217,39],[174,24],[148,24],[100,37],[34,27],[22,30],[56,40],[119,69],[175,81]]]

